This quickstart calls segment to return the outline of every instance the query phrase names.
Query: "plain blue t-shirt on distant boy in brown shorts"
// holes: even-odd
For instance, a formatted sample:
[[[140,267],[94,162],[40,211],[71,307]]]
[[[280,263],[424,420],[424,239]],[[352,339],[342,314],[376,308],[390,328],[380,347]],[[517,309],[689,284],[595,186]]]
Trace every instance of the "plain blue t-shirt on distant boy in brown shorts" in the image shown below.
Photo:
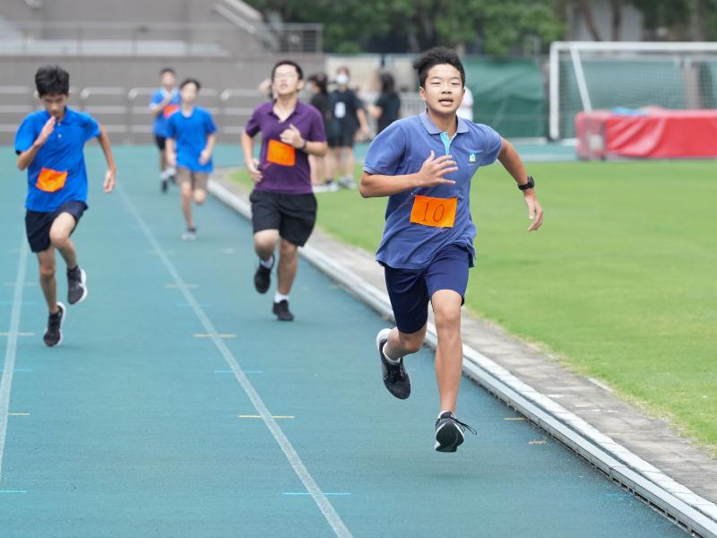
[[[169,117],[167,135],[177,141],[177,167],[193,172],[212,172],[212,160],[201,164],[199,156],[207,145],[209,135],[216,131],[217,126],[212,114],[204,108],[194,107],[189,116],[185,116],[181,110],[172,114]]]

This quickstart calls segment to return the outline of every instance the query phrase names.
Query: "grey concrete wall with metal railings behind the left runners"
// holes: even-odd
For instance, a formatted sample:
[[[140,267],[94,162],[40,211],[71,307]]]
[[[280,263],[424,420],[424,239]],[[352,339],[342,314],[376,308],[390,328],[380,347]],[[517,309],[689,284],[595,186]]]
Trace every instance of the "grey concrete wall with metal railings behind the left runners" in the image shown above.
[[[291,56],[310,74],[324,69],[324,56]],[[147,111],[149,94],[159,84],[159,71],[168,65],[179,79],[193,77],[203,84],[199,104],[215,114],[220,131],[236,135],[263,99],[259,82],[268,78],[276,55],[247,56],[241,59],[206,58],[168,62],[164,58],[68,58],[68,57],[0,57],[0,143],[12,143],[17,125],[32,109],[39,108],[34,99],[34,74],[39,65],[59,64],[70,73],[73,87],[71,106],[86,109],[97,117],[117,142],[151,141],[151,119]],[[84,98],[82,90],[85,91]],[[128,94],[132,89],[134,100]],[[225,92],[225,99],[222,92]]]

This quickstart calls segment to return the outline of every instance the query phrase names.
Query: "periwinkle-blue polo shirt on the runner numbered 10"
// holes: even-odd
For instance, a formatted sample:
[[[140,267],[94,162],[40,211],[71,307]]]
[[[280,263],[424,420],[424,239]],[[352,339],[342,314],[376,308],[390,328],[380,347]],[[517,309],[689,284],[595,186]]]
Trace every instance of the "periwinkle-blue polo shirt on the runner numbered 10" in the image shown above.
[[[471,178],[481,166],[497,160],[503,139],[489,126],[458,117],[453,139],[442,133],[424,112],[405,117],[382,131],[368,148],[364,170],[369,174],[414,174],[433,151],[436,157],[452,155],[458,170],[446,179],[455,185],[420,187],[389,196],[384,236],[376,260],[396,269],[422,269],[442,248],[463,245],[475,256],[476,227],[471,218]],[[457,198],[453,227],[436,228],[410,221],[416,196]]]

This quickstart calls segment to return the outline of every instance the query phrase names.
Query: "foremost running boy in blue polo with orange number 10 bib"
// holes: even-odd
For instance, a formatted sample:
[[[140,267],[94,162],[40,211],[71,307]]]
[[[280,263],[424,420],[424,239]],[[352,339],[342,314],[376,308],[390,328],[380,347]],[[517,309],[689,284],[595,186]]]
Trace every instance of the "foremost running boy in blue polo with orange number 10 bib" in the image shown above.
[[[479,167],[498,160],[523,191],[532,220],[529,231],[540,227],[542,209],[513,145],[490,127],[456,116],[465,73],[455,52],[432,48],[414,67],[427,110],[376,136],[359,191],[364,197],[389,196],[376,253],[396,318],[395,328],[376,335],[384,385],[397,398],[409,397],[403,357],[423,344],[430,302],[438,334],[436,450],[454,452],[464,428],[475,433],[454,415],[462,373],[461,307],[475,256],[471,178]]]

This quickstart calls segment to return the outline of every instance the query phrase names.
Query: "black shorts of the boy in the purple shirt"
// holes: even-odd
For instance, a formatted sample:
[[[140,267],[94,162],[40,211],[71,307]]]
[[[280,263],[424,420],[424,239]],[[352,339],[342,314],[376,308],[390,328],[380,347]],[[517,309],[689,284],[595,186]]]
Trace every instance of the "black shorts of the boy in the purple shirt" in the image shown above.
[[[281,238],[303,247],[316,223],[316,198],[308,195],[284,195],[254,190],[252,203],[254,233],[279,230]]]

